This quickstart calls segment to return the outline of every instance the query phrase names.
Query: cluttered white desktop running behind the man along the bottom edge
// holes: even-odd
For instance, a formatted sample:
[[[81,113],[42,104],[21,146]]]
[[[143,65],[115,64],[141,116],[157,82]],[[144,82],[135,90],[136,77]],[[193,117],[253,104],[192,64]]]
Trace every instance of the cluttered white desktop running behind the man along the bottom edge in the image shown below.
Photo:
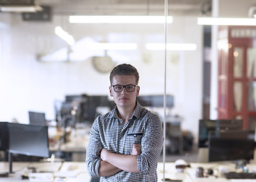
[[[235,170],[235,164],[231,162],[220,163],[191,163],[191,168],[186,168],[183,172],[178,172],[173,162],[167,162],[165,165],[165,177],[172,180],[182,180],[183,182],[231,182],[219,174],[217,177],[196,177],[196,168],[203,167],[204,169],[212,168],[218,170],[220,168],[229,169],[229,171]],[[9,174],[9,177],[0,177],[0,181],[31,181],[21,180],[21,175],[29,171],[28,168],[36,168],[37,171],[52,171],[51,174],[54,177],[54,182],[90,182],[90,176],[87,173],[85,162],[13,162],[14,174]],[[249,171],[256,172],[256,163],[248,165]],[[8,171],[8,162],[0,162],[0,172]],[[163,163],[159,162],[157,166],[158,182],[163,181]]]

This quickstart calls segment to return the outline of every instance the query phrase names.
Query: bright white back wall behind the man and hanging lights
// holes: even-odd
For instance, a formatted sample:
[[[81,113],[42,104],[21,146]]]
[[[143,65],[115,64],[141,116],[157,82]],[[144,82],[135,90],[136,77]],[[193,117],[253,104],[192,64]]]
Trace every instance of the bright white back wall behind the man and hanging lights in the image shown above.
[[[1,14],[0,14],[1,16]],[[141,74],[141,95],[163,94],[164,52],[147,51],[147,42],[163,42],[163,25],[78,25],[67,17],[53,17],[52,22],[24,22],[20,14],[9,14],[8,27],[0,27],[0,121],[16,118],[28,122],[27,111],[46,112],[54,117],[53,102],[68,94],[108,95],[109,74],[100,74],[90,59],[71,62],[40,62],[36,55],[46,55],[66,46],[54,34],[62,26],[78,41],[91,37],[96,41],[136,42],[136,51],[119,54],[115,61],[128,62]],[[195,43],[196,51],[167,52],[167,93],[175,97],[172,114],[184,118],[182,128],[198,133],[202,103],[202,27],[197,17],[174,17],[168,26],[168,42]],[[1,19],[0,19],[1,21]],[[84,52],[88,50],[84,49]],[[110,52],[109,52],[110,54]]]

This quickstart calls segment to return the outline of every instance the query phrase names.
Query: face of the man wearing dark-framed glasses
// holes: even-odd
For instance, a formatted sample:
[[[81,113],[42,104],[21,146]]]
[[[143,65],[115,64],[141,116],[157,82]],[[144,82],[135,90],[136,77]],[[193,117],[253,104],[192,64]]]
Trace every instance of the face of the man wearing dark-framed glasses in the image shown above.
[[[112,78],[112,86],[109,86],[109,93],[110,96],[115,101],[115,104],[118,107],[129,107],[134,106],[136,102],[136,97],[139,95],[140,87],[135,86],[134,92],[127,92],[127,90],[124,88],[121,93],[116,93],[113,89],[114,85],[136,85],[136,80],[134,75],[115,75],[115,77]]]

